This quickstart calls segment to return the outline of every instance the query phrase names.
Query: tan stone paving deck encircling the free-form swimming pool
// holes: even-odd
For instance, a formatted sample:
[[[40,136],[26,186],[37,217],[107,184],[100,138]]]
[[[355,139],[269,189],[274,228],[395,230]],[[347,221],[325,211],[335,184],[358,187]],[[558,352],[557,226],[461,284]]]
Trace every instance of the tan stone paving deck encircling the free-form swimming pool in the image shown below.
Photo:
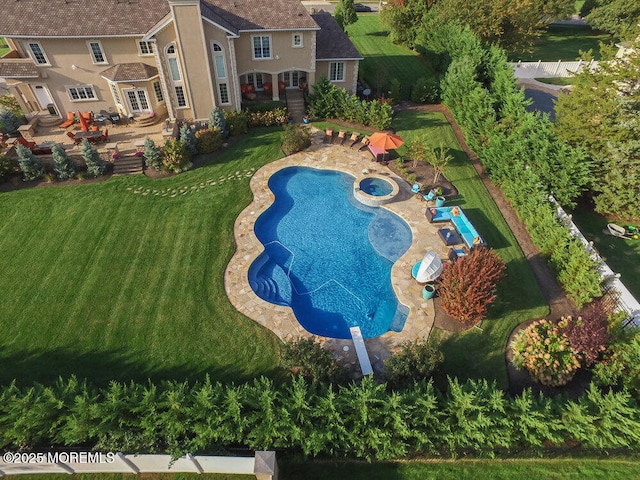
[[[426,340],[429,337],[434,322],[433,300],[422,298],[422,285],[412,278],[411,267],[422,260],[428,250],[434,250],[441,259],[446,259],[448,247],[438,238],[437,227],[425,218],[427,202],[416,198],[406,181],[398,178],[387,167],[375,163],[369,152],[324,144],[323,137],[324,132],[314,132],[312,145],[308,149],[265,165],[251,178],[250,187],[254,199],[235,222],[236,252],[225,271],[225,290],[239,312],[273,331],[282,340],[311,337],[312,335],[298,323],[291,308],[265,302],[249,285],[249,266],[263,251],[262,244],[253,232],[253,224],[274,201],[274,195],[267,184],[269,178],[278,170],[290,166],[337,170],[354,177],[361,176],[363,170],[367,170],[372,174],[393,178],[400,186],[400,192],[392,202],[380,208],[386,208],[399,215],[411,227],[413,243],[391,270],[391,281],[396,296],[401,303],[409,307],[409,315],[402,332],[387,332],[378,338],[365,339],[371,363],[374,370],[379,372],[382,362],[403,342]],[[334,356],[341,363],[356,369],[358,360],[352,340],[323,337],[319,339],[333,350]]]

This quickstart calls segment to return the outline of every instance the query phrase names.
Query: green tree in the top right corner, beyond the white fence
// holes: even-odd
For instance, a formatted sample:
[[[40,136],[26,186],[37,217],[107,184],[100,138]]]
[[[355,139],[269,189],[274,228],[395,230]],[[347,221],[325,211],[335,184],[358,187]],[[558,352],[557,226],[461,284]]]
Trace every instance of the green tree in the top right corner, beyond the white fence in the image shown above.
[[[640,33],[640,2],[637,0],[595,0],[589,3],[590,10],[585,19],[593,28],[623,40],[635,39]]]

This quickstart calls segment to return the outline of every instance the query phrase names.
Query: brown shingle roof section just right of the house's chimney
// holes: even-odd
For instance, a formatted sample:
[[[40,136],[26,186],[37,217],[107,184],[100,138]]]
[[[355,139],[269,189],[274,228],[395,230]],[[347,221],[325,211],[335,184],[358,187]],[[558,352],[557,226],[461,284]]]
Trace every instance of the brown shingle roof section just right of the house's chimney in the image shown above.
[[[202,14],[212,21],[214,15],[234,32],[243,30],[317,29],[309,12],[299,0],[202,0]]]

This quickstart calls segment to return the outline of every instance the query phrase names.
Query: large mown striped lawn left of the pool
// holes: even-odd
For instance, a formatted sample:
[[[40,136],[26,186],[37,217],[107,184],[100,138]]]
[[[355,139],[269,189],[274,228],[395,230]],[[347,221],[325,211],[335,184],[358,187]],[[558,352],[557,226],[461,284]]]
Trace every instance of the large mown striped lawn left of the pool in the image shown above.
[[[171,178],[1,193],[0,383],[274,373],[279,340],[232,307],[223,272],[279,135],[253,130]]]

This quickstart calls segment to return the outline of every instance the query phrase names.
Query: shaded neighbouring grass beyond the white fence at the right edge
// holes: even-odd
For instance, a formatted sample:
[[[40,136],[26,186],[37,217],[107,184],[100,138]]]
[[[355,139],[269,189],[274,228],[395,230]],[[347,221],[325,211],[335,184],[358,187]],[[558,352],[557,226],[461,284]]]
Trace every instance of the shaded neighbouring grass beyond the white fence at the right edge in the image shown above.
[[[580,231],[593,241],[607,265],[621,275],[620,280],[625,284],[634,297],[640,298],[640,240],[626,240],[602,233],[607,228],[607,219],[602,215],[588,211],[576,210],[573,221]],[[614,222],[627,225],[624,222]]]

